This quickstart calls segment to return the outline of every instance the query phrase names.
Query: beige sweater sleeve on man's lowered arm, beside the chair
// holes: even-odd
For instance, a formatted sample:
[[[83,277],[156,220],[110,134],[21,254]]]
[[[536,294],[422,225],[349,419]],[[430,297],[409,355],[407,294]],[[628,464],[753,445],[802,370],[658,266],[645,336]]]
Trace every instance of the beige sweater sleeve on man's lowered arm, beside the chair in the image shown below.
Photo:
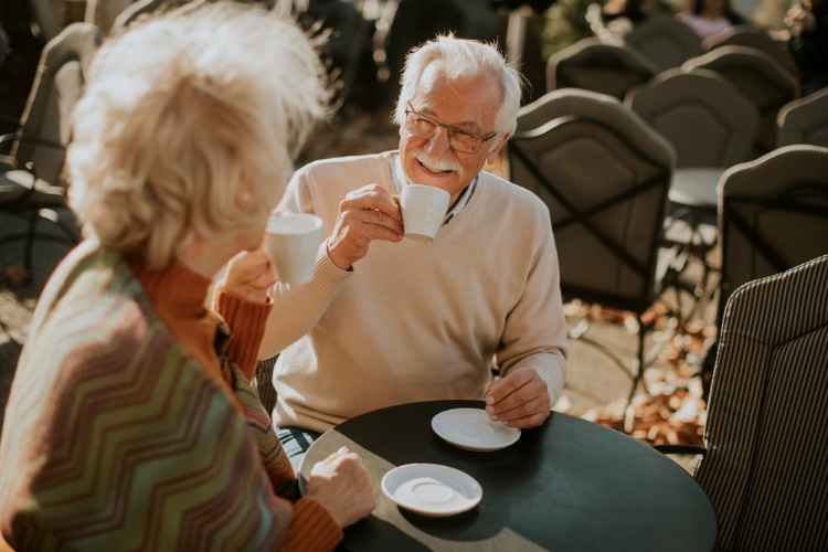
[[[564,384],[567,332],[555,241],[549,211],[542,213],[534,220],[535,246],[523,294],[507,317],[497,359],[505,373],[523,367],[535,370],[554,404]]]

